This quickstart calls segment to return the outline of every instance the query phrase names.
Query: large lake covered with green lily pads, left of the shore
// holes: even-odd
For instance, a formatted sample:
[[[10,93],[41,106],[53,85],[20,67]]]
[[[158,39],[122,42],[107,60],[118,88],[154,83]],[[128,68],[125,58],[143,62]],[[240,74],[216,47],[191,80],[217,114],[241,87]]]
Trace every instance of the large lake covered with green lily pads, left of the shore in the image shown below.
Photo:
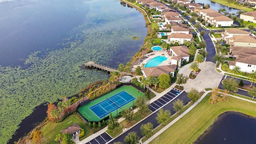
[[[92,60],[118,68],[147,34],[143,15],[118,0],[3,1],[0,31],[0,143],[19,129],[10,144],[44,120],[42,103],[108,80],[79,66]]]

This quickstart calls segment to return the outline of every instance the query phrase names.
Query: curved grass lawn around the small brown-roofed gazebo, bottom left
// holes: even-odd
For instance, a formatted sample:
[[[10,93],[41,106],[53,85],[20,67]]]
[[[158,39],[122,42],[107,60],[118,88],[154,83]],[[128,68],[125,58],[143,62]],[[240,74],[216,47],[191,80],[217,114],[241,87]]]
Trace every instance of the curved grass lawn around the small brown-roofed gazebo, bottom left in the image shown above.
[[[44,144],[59,144],[59,142],[54,141],[57,134],[60,134],[60,130],[63,130],[64,128],[67,128],[68,126],[71,126],[76,122],[82,129],[84,129],[85,135],[83,138],[88,137],[92,134],[90,130],[86,127],[86,124],[76,115],[72,114],[68,116],[63,122],[60,123],[53,123],[48,122],[43,128],[42,132],[44,135]]]

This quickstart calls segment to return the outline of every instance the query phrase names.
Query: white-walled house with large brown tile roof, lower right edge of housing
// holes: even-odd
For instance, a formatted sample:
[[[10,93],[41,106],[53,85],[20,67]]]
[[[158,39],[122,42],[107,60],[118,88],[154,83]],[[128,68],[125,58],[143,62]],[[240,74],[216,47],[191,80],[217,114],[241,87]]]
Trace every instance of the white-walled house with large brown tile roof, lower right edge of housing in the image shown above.
[[[256,48],[231,46],[230,51],[236,61],[230,61],[230,69],[239,66],[242,72],[254,72],[256,70]]]

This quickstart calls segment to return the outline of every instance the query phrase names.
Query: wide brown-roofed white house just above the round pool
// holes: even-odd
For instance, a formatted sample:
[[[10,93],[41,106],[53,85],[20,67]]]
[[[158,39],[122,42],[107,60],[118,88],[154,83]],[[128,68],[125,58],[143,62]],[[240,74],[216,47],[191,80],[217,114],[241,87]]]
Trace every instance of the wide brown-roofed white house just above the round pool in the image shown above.
[[[174,33],[168,36],[167,43],[171,44],[174,42],[178,42],[179,44],[184,44],[184,40],[193,41],[193,35],[184,33]]]

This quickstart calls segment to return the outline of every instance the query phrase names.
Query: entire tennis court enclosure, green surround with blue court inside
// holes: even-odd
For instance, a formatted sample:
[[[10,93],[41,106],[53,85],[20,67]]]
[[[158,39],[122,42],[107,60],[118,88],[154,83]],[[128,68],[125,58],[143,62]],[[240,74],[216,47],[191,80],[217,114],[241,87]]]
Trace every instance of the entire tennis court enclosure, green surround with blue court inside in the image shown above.
[[[132,107],[138,96],[144,96],[144,93],[133,86],[122,86],[81,106],[78,112],[86,118],[86,121],[88,120],[87,122],[99,122],[108,118],[110,111],[115,117],[123,109]]]

